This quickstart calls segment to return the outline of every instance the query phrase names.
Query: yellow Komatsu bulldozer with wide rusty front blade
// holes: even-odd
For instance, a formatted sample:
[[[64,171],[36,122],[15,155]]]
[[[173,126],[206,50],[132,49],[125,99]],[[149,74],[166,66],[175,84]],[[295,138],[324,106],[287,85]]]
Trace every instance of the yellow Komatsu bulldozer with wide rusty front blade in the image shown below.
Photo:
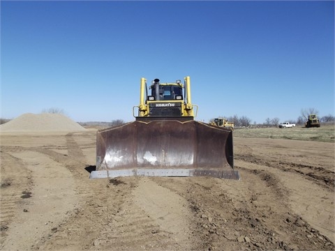
[[[184,83],[140,81],[135,121],[98,130],[96,171],[117,176],[212,176],[239,180],[234,170],[232,130],[195,121],[190,77]]]

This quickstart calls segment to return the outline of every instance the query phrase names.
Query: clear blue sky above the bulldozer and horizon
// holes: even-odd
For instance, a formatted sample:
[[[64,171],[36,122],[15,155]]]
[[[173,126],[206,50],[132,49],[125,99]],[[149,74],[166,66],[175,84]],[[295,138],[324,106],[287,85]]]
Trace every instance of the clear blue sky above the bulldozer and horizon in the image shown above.
[[[133,121],[187,75],[199,121],[334,116],[334,1],[1,1],[1,118]]]

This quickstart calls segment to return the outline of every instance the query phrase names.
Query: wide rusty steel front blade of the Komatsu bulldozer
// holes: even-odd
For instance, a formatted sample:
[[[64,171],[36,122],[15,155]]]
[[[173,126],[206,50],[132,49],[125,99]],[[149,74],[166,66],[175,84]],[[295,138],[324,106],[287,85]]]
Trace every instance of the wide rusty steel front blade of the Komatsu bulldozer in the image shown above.
[[[117,176],[213,176],[239,180],[232,131],[198,121],[134,121],[99,130],[96,171]]]

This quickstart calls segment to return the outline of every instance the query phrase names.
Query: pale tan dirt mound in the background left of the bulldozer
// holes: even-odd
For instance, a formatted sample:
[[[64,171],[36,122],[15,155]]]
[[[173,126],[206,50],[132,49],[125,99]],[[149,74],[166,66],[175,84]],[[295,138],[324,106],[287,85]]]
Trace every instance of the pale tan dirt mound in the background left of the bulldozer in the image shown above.
[[[0,126],[0,131],[81,131],[80,124],[62,114],[22,114]]]

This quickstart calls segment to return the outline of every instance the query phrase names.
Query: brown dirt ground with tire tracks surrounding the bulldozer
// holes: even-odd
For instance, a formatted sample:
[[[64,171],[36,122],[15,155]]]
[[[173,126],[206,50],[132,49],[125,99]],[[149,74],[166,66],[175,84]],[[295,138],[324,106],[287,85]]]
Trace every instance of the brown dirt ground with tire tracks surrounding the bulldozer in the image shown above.
[[[1,134],[1,250],[334,250],[334,144],[234,138],[240,181],[89,180],[96,131]]]

